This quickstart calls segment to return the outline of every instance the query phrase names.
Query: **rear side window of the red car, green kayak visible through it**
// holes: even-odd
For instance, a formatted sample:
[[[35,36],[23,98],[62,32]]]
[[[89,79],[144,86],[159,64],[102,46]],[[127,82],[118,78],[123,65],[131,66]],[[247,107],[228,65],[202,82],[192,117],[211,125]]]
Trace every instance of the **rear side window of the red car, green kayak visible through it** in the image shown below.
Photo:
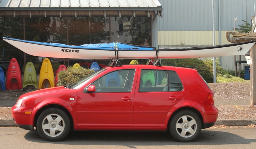
[[[141,70],[140,92],[182,91],[183,85],[175,71]]]

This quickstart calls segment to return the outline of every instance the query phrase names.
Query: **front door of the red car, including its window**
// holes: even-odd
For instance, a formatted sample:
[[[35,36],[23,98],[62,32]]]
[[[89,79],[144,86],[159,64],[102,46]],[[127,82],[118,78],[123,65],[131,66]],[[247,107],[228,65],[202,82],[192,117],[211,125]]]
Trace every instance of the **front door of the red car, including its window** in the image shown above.
[[[133,126],[134,75],[135,69],[117,70],[92,82],[96,91],[77,98],[78,126]]]

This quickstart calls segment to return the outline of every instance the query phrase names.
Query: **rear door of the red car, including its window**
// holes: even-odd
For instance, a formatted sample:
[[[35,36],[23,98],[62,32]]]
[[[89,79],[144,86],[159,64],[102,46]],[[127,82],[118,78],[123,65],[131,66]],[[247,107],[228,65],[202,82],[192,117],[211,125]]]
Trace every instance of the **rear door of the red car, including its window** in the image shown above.
[[[134,126],[162,126],[187,91],[175,71],[140,69],[134,101]]]

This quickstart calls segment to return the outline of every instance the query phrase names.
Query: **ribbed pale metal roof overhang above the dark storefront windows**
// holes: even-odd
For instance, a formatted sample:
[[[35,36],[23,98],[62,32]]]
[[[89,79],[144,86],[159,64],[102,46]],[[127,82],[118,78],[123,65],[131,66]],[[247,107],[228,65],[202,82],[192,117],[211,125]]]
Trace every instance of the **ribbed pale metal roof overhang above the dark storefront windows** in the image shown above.
[[[88,15],[90,12],[95,15],[102,14],[107,15],[130,15],[135,14],[149,16],[149,13],[157,14],[162,17],[162,5],[158,0],[74,0],[78,3],[73,3],[73,1],[68,2],[65,0],[0,0],[0,17],[2,16],[38,16],[37,12],[43,11],[45,16],[57,15],[56,12],[80,12],[80,15]],[[37,3],[38,7],[32,7],[33,3]],[[86,2],[86,3],[84,3]],[[86,4],[86,5],[85,5]],[[87,11],[89,13],[81,13]],[[18,13],[19,12],[19,13]],[[34,12],[34,13],[31,13]],[[47,13],[46,13],[47,12]],[[49,13],[55,12],[55,13]],[[106,13],[107,12],[107,13]],[[127,13],[131,12],[131,13]],[[155,13],[157,12],[157,13]],[[40,13],[42,14],[42,13]],[[72,15],[74,13],[62,13],[65,15]]]

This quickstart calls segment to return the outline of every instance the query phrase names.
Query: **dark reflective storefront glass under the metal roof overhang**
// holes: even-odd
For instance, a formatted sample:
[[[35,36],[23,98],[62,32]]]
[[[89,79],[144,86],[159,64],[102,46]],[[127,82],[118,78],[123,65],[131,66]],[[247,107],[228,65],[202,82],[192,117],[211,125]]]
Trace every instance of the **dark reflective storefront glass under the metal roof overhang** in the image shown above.
[[[130,22],[131,29],[124,29],[123,22]],[[151,18],[149,17],[0,17],[0,32],[3,32],[3,36],[17,39],[68,45],[118,41],[151,46]],[[25,54],[24,57],[24,52],[21,50],[7,42],[0,42],[0,61],[8,63],[12,58],[18,60],[22,73],[26,63],[30,61],[39,73],[44,59],[44,57],[28,54]],[[67,62],[67,59],[49,59],[54,71],[58,70],[61,64]],[[79,63],[79,61],[81,60],[69,59],[69,65]],[[91,63],[91,61],[88,62]],[[109,63],[109,61],[96,62],[99,64]],[[127,64],[129,62],[130,60],[127,60]],[[122,63],[126,64],[126,61],[123,60]]]

